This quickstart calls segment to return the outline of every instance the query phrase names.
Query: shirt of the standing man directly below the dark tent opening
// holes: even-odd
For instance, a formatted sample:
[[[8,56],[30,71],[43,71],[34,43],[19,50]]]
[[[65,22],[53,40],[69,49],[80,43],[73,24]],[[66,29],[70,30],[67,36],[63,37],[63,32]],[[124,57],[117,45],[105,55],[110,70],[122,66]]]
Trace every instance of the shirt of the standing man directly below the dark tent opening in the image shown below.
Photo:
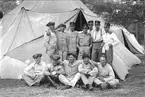
[[[79,46],[90,46],[91,45],[91,35],[90,34],[84,34],[84,33],[80,33],[78,34],[78,44]]]

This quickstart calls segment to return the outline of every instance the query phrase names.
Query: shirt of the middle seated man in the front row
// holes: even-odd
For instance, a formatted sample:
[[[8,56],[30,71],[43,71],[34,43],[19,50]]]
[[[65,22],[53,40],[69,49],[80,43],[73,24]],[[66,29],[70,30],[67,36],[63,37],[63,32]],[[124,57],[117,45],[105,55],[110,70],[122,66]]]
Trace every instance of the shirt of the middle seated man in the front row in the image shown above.
[[[63,61],[64,70],[68,77],[74,76],[78,72],[78,61],[75,61],[73,64],[69,63],[68,60]]]

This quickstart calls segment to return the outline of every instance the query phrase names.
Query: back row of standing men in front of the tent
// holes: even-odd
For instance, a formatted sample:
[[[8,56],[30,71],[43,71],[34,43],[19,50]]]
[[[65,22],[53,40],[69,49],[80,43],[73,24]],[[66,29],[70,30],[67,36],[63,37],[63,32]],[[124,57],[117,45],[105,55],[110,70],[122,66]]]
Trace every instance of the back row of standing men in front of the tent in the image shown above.
[[[95,28],[93,29],[93,25]],[[48,30],[44,34],[44,46],[48,56],[59,54],[61,60],[67,59],[68,53],[77,55],[82,59],[83,53],[90,55],[93,61],[98,62],[100,55],[105,53],[107,62],[112,64],[112,45],[118,41],[110,29],[110,23],[105,23],[104,29],[100,28],[100,21],[89,21],[88,26],[84,25],[82,31],[75,31],[75,23],[70,22],[69,31],[65,32],[66,25],[60,24],[55,30],[55,23],[49,22]]]

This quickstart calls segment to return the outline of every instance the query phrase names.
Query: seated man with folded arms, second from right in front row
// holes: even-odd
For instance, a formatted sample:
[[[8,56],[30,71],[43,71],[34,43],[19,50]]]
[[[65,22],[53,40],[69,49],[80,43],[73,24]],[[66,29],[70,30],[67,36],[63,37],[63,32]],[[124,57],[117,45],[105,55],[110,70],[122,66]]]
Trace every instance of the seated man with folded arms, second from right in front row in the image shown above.
[[[83,61],[78,66],[78,71],[81,73],[81,79],[84,83],[83,88],[93,90],[92,84],[98,73],[98,68],[95,66],[95,62],[90,60],[88,54],[83,54]]]

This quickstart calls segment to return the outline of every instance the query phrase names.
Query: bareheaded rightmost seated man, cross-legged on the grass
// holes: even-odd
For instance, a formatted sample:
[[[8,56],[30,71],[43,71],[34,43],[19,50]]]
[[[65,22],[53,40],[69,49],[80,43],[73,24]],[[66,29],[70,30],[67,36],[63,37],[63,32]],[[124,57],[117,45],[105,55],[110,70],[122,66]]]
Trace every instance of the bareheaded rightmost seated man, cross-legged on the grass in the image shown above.
[[[100,86],[101,89],[106,89],[108,86],[111,88],[116,88],[119,84],[119,80],[115,79],[114,71],[112,67],[106,62],[105,55],[100,57],[100,62],[98,62],[98,77],[94,79],[94,83]]]

